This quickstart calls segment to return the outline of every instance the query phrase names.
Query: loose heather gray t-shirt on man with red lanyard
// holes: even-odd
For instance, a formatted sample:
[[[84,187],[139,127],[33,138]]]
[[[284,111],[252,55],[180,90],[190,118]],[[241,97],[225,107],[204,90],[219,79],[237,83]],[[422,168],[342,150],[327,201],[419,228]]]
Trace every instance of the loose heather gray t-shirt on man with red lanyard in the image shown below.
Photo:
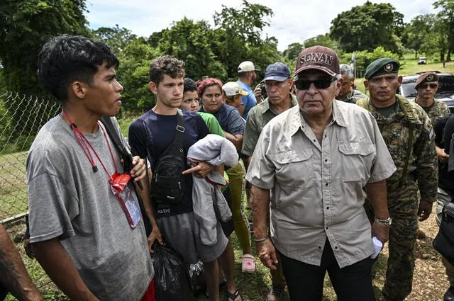
[[[85,137],[113,174],[102,130]],[[109,143],[122,172],[116,147]],[[96,172],[60,116],[38,132],[27,158],[31,242],[58,237],[99,300],[140,300],[154,274],[143,220],[131,228],[106,172],[92,156]],[[135,198],[131,182],[129,188]]]

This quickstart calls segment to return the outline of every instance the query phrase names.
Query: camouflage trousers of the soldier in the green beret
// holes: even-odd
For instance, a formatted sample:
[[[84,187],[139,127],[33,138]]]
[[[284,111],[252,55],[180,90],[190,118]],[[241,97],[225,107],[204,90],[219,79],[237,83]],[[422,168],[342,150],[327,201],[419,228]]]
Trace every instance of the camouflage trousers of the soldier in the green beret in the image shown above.
[[[419,202],[417,190],[409,188],[401,191],[400,198],[388,199],[392,224],[389,226],[389,256],[382,290],[386,301],[404,300],[411,293],[413,283]],[[370,220],[373,220],[369,201],[366,201],[365,208]]]

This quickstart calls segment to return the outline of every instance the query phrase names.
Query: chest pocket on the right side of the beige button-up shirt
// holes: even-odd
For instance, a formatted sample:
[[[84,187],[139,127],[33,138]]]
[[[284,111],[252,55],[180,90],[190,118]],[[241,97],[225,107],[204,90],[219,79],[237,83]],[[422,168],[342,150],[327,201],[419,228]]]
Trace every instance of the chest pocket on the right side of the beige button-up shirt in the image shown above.
[[[375,161],[375,146],[367,142],[347,142],[338,144],[341,154],[341,179],[343,182],[362,182],[364,186],[370,178]]]

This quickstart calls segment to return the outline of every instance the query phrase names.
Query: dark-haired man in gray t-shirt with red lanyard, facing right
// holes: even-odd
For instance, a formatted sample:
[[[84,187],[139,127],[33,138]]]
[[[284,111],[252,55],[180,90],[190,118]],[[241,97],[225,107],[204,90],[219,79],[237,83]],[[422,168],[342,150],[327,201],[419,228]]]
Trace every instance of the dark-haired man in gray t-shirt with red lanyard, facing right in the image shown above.
[[[63,110],[41,128],[27,158],[35,256],[72,300],[152,300],[153,264],[128,181],[131,176],[146,189],[146,164],[134,157],[133,169],[124,173],[99,123],[101,115],[114,116],[121,107],[118,60],[102,42],[62,35],[43,46],[38,65],[41,83]]]

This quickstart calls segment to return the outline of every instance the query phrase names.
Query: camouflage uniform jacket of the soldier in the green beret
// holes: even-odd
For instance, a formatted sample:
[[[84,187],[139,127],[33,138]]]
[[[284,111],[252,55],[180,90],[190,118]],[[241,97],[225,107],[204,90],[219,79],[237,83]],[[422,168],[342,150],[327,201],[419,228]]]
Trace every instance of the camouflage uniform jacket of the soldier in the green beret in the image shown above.
[[[399,198],[409,186],[418,186],[421,200],[435,202],[438,186],[438,162],[431,121],[424,110],[403,96],[396,96],[396,110],[385,118],[370,103],[361,99],[359,106],[372,113],[380,127],[384,142],[387,144],[397,171],[387,179],[388,198]],[[410,129],[413,142],[409,145]],[[408,166],[406,166],[409,149]],[[406,172],[405,171],[406,166]]]

